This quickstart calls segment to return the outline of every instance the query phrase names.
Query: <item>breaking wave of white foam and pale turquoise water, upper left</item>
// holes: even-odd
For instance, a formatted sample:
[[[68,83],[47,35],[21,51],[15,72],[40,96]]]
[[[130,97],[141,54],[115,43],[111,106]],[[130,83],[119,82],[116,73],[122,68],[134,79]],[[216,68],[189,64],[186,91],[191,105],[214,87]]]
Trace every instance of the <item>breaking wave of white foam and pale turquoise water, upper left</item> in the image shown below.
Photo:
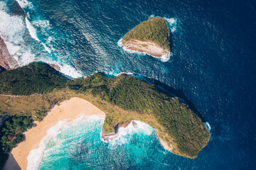
[[[58,40],[58,33],[51,31],[50,21],[42,19],[33,4],[27,0],[17,0],[25,15],[12,15],[4,1],[0,2],[0,36],[9,53],[24,66],[31,62],[56,64],[60,72],[68,77],[82,77],[82,73],[73,67],[68,57],[60,55],[52,45]],[[35,13],[38,16],[33,16]],[[39,31],[40,30],[40,31]],[[53,35],[54,33],[54,35]],[[28,36],[27,36],[28,35]],[[30,35],[30,36],[29,36]],[[53,36],[57,36],[53,38]],[[58,45],[55,43],[55,45]],[[10,66],[11,67],[11,66]]]

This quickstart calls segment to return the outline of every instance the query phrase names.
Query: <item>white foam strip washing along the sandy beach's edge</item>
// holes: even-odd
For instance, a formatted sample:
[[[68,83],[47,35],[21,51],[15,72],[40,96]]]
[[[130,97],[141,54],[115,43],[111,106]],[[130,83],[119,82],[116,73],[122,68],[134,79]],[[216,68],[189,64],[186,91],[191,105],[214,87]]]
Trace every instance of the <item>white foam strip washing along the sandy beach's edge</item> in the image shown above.
[[[39,143],[39,147],[37,149],[32,149],[27,157],[28,170],[36,170],[41,162],[41,159],[43,157],[43,152],[46,149],[46,144],[50,139],[55,139],[55,137],[61,132],[61,130],[68,129],[70,125],[73,125],[74,123],[80,123],[82,120],[104,120],[102,115],[84,115],[80,114],[78,115],[78,118],[68,122],[65,120],[60,120],[56,125],[51,127],[49,130],[47,130],[47,135],[43,137],[41,142]],[[61,140],[56,141],[58,143],[61,143]]]

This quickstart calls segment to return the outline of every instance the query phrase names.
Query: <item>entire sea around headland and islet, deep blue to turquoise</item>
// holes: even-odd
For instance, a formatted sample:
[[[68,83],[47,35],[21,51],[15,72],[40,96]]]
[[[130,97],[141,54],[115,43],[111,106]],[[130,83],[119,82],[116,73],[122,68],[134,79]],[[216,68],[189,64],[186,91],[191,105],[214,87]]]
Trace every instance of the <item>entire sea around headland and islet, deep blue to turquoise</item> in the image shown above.
[[[100,140],[103,120],[64,123],[38,169],[256,169],[255,8],[253,0],[1,0],[0,36],[18,64],[156,79],[182,91],[211,127],[208,145],[187,159],[166,152],[146,125],[112,144]],[[168,61],[118,45],[150,16],[171,21]]]

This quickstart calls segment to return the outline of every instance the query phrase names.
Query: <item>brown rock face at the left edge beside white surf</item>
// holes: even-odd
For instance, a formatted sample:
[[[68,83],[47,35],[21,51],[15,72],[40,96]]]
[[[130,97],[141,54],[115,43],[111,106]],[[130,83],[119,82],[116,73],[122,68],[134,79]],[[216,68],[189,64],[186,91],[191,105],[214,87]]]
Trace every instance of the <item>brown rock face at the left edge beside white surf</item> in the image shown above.
[[[0,37],[0,66],[6,70],[16,69],[18,62],[12,57],[4,43],[4,40]]]

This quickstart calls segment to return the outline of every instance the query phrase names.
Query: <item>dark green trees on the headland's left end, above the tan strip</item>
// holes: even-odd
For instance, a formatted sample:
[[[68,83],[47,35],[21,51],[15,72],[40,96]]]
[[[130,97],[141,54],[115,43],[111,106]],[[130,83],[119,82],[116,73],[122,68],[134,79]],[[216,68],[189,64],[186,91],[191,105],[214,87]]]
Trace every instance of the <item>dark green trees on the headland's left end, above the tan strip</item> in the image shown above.
[[[48,64],[33,62],[0,74],[0,94],[30,95],[46,94],[61,88],[67,79]]]

